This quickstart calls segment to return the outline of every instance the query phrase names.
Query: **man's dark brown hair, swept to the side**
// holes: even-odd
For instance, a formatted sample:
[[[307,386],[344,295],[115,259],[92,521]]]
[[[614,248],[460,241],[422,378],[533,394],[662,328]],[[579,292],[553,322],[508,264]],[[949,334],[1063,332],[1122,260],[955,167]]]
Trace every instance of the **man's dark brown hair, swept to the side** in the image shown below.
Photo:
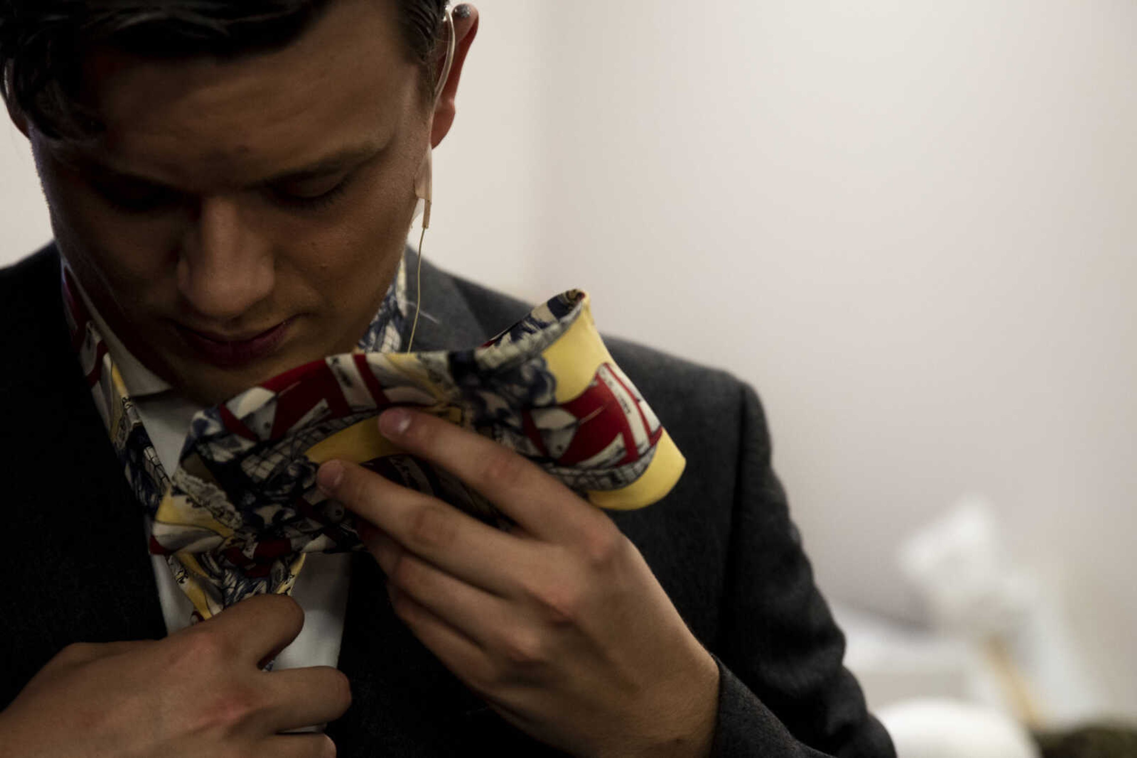
[[[379,0],[376,0],[379,1]],[[431,91],[446,0],[390,0]],[[236,58],[287,47],[335,0],[0,0],[0,97],[49,139],[102,131],[78,97],[86,52]]]

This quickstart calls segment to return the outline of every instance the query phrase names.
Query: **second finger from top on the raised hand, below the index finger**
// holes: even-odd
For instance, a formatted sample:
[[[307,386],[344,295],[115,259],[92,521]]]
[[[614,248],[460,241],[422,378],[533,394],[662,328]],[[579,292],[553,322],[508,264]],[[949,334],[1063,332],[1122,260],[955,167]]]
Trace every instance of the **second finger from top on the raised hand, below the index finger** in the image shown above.
[[[329,472],[340,474],[332,484]],[[441,500],[408,490],[350,463],[319,469],[321,488],[412,552],[493,594],[516,590],[507,570],[532,568],[537,556],[523,540],[488,526]]]

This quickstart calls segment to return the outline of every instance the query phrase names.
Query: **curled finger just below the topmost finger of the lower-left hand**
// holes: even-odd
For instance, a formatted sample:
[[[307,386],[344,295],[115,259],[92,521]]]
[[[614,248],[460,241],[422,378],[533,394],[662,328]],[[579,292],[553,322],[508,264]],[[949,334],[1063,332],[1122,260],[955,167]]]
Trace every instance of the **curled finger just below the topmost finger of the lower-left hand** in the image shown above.
[[[277,703],[269,725],[274,732],[333,722],[351,705],[351,684],[331,666],[287,668],[266,676],[268,697]]]

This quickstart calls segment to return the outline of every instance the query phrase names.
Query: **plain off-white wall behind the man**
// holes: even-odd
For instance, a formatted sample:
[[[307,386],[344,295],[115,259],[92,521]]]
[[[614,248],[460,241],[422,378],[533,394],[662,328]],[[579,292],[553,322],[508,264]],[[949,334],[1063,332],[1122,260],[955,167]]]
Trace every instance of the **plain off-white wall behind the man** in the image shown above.
[[[897,544],[988,495],[1137,716],[1137,3],[479,7],[426,255],[753,382],[833,598],[919,619]]]

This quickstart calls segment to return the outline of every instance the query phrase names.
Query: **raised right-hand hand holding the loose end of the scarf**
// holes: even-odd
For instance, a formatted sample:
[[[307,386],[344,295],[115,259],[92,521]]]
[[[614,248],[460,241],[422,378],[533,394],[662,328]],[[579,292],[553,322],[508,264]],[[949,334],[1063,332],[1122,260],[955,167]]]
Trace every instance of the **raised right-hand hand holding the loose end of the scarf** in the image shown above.
[[[393,409],[382,433],[517,526],[495,530],[354,464],[318,481],[367,519],[396,614],[532,736],[579,756],[704,756],[719,670],[636,547],[599,509],[492,440]]]

